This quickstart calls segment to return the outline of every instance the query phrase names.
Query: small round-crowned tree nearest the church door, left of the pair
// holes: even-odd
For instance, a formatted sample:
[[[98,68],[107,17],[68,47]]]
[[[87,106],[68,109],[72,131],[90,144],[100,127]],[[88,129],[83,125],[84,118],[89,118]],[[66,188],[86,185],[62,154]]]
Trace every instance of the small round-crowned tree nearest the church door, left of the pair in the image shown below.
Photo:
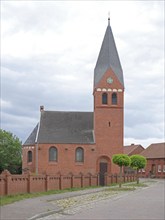
[[[115,154],[112,157],[112,161],[114,164],[118,165],[120,167],[120,182],[119,182],[119,187],[121,187],[121,182],[122,182],[122,167],[123,166],[129,166],[130,165],[130,158],[126,154]]]

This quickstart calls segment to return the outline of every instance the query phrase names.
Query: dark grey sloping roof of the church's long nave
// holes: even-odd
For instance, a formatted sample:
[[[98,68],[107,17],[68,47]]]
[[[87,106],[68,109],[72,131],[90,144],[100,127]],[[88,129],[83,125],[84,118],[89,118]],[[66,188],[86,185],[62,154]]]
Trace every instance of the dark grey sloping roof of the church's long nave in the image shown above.
[[[24,145],[30,143],[31,136],[35,135],[36,129]],[[93,144],[93,112],[42,111],[37,142]]]

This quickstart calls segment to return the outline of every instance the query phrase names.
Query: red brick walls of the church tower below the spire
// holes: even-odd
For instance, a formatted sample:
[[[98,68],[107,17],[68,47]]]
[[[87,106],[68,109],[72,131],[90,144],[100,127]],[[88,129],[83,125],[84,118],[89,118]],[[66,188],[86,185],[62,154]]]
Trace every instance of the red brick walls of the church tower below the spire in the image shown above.
[[[107,78],[113,79],[112,84]],[[108,89],[112,91],[108,91]],[[113,90],[117,93],[117,105],[112,105]],[[100,91],[101,90],[101,91]],[[104,91],[106,90],[106,91]],[[102,94],[108,94],[108,104],[102,104]],[[117,173],[119,169],[112,163],[113,154],[123,153],[123,105],[124,88],[111,69],[107,70],[94,90],[94,130],[97,157],[107,155],[110,158],[109,172]]]

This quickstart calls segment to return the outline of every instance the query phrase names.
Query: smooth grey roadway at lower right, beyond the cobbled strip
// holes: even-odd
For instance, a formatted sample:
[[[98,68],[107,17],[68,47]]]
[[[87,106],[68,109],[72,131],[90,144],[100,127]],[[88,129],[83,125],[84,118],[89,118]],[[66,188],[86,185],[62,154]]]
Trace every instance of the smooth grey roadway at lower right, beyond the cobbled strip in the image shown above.
[[[40,220],[48,219],[121,219],[121,220],[164,220],[165,180],[149,187],[123,193],[97,202],[72,207]]]

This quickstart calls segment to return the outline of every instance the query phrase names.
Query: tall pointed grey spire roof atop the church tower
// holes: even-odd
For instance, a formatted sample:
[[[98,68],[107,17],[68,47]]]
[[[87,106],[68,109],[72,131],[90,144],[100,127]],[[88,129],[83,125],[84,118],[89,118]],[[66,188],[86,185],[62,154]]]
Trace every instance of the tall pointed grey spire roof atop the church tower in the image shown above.
[[[124,86],[123,70],[120,64],[112,29],[108,24],[94,70],[94,87],[96,87],[109,68],[112,69],[121,84]]]

